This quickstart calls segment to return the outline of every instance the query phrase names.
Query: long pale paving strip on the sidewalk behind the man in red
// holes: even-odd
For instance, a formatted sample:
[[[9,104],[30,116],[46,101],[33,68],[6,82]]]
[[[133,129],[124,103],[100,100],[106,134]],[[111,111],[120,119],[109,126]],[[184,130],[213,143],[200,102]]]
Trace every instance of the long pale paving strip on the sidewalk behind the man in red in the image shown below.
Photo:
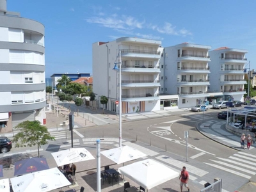
[[[177,161],[175,159],[172,159],[168,156],[158,156],[156,159],[159,159],[161,161],[164,161],[165,163],[172,164],[172,166],[176,166],[178,168],[182,168],[182,166],[186,166],[186,169],[189,170],[189,173],[193,173],[193,175],[198,175],[199,177],[202,177],[206,175],[209,172],[206,172],[205,170],[201,170],[200,168],[197,168],[195,166],[192,166],[190,164],[184,163],[183,161]]]

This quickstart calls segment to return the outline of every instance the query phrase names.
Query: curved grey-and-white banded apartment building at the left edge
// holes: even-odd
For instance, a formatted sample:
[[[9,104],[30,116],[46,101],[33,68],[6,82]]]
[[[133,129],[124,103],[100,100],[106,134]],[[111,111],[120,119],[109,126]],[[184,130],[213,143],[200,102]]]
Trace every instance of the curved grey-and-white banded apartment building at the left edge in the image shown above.
[[[25,120],[45,120],[44,26],[7,12],[0,0],[1,132]]]

